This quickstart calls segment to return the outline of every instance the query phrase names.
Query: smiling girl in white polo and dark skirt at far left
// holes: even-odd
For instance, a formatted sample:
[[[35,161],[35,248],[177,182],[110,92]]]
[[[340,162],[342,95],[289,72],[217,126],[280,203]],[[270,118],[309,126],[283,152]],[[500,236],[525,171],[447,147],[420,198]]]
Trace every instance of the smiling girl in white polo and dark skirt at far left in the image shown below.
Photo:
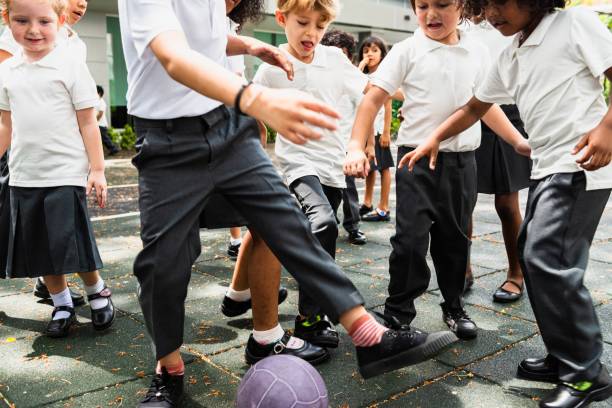
[[[95,329],[110,327],[115,317],[86,202],[92,189],[101,207],[106,202],[98,97],[85,63],[57,45],[64,10],[61,0],[3,1],[22,47],[0,69],[0,154],[11,147],[6,276],[45,277],[55,306],[46,329],[51,337],[66,336],[76,322],[66,274],[83,279]]]

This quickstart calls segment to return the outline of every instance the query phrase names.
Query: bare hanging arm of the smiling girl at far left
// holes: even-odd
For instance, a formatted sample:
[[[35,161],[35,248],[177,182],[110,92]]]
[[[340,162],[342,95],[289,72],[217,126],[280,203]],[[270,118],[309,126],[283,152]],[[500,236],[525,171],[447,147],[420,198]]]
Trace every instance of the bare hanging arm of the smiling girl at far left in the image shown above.
[[[92,188],[95,189],[98,205],[100,208],[104,208],[106,207],[107,194],[106,177],[104,177],[104,153],[102,151],[100,128],[98,128],[94,112],[94,108],[87,108],[78,110],[76,113],[79,130],[89,159],[90,171],[87,178],[87,195]]]

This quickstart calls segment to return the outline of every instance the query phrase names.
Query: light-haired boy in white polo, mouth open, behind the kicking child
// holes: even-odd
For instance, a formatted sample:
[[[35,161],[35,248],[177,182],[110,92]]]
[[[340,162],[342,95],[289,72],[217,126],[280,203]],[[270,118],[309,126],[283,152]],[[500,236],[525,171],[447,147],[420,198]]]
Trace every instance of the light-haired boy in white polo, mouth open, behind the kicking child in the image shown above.
[[[304,9],[299,1],[277,1],[276,21],[285,29],[288,41],[280,49],[293,64],[295,76],[288,80],[281,69],[263,64],[253,82],[271,88],[300,89],[331,106],[338,106],[346,95],[353,98],[363,95],[367,76],[340,49],[319,44],[333,19],[331,7],[335,6],[333,1],[323,3],[329,3],[330,8],[319,6],[321,11],[317,11]],[[342,171],[345,136],[337,131],[324,131],[320,140],[296,145],[279,134],[275,152],[285,181],[308,217],[313,233],[335,258],[336,212],[346,188]],[[298,310],[297,337],[321,347],[338,346],[338,333],[321,313],[316,294],[300,288]]]

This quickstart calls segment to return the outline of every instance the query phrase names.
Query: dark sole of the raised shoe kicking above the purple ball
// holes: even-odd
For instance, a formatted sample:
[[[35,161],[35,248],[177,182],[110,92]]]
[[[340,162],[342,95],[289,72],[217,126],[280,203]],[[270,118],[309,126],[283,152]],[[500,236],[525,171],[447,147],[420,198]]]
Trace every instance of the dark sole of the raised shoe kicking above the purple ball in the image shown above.
[[[398,370],[402,367],[422,363],[438,354],[446,346],[455,343],[457,340],[458,338],[453,332],[430,334],[425,343],[364,367],[359,367],[359,373],[364,379],[368,379]]]

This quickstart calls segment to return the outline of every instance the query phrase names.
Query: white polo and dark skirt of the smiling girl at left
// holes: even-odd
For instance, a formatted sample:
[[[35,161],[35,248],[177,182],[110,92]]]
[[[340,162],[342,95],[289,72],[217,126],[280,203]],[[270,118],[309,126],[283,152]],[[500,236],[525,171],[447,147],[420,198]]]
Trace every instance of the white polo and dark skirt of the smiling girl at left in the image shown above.
[[[9,278],[102,267],[85,197],[89,161],[75,112],[96,107],[98,95],[85,63],[71,55],[60,44],[37,62],[27,63],[19,52],[0,65],[0,109],[11,112],[14,130]]]

